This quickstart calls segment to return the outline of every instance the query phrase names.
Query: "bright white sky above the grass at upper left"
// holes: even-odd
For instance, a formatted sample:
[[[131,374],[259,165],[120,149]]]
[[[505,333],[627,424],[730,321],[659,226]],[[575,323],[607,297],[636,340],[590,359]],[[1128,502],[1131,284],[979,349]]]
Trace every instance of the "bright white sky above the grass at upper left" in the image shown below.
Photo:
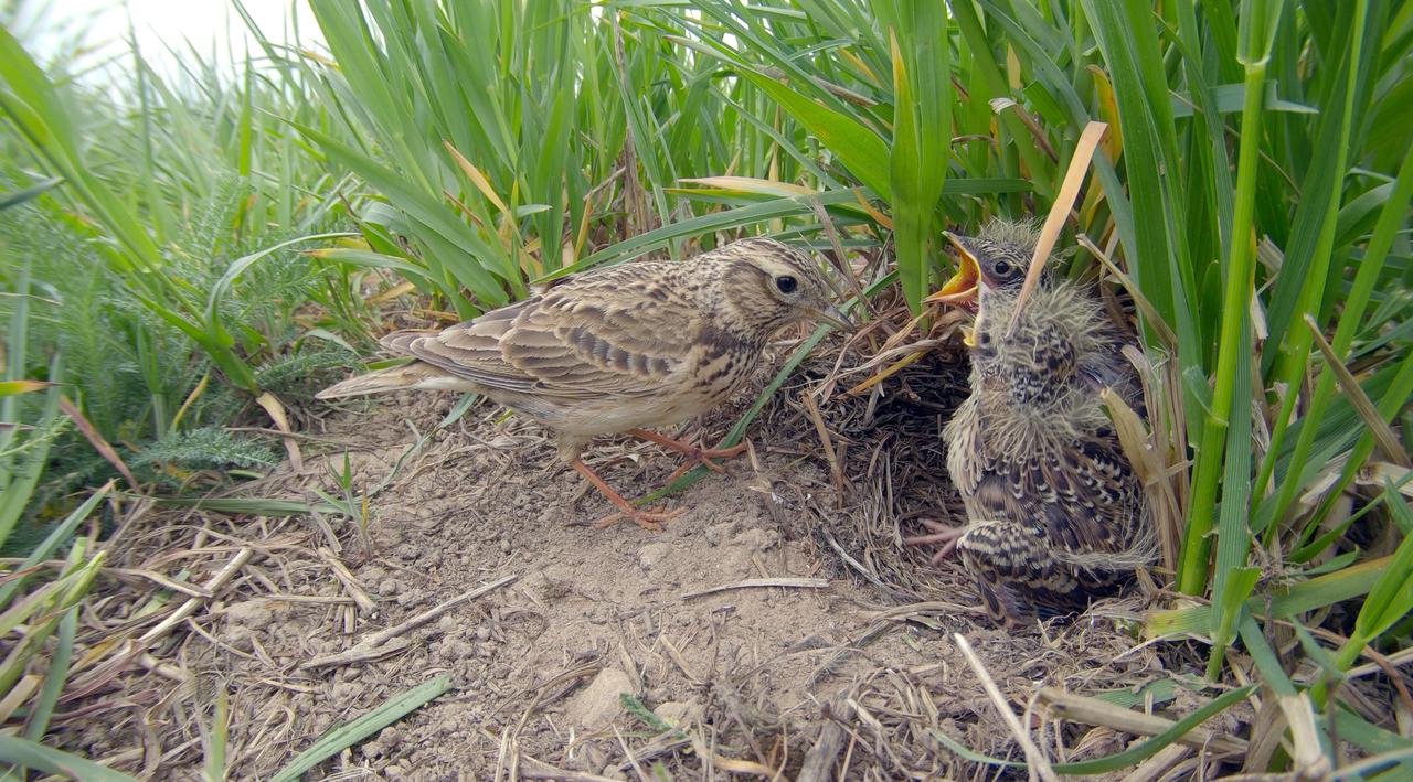
[[[44,23],[38,25],[41,28],[62,27],[65,21],[78,25],[88,23],[89,42],[107,44],[105,51],[110,54],[120,51],[119,47],[126,48],[127,20],[131,14],[143,56],[162,73],[174,71],[172,49],[187,54],[189,48],[195,48],[203,59],[215,55],[223,64],[230,62],[232,51],[237,58],[243,58],[247,49],[260,56],[260,48],[232,0],[20,0],[20,6],[21,28],[27,16],[32,18],[38,14],[44,17]],[[292,40],[294,27],[288,21],[291,11],[305,45],[321,45],[324,41],[307,0],[244,0],[244,6],[271,41]],[[44,47],[44,38],[40,40],[40,47]],[[44,51],[35,54],[44,59]]]

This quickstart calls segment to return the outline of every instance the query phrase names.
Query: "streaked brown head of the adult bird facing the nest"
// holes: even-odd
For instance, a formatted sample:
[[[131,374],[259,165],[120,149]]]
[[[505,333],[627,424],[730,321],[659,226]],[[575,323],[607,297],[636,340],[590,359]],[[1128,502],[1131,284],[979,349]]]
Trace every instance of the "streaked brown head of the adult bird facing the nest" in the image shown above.
[[[800,250],[773,239],[742,239],[708,255],[723,264],[719,306],[731,326],[759,339],[801,320],[853,329],[831,303],[820,264]]]

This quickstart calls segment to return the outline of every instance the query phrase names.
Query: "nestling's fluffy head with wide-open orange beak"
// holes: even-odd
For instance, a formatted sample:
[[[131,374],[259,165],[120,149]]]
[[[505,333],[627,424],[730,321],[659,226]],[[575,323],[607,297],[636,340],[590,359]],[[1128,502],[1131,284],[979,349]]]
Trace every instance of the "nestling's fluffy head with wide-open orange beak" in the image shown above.
[[[976,236],[952,231],[944,236],[957,248],[957,274],[926,301],[972,312],[979,312],[988,302],[1015,301],[1036,250],[1034,224],[992,220]],[[1040,284],[1048,284],[1046,272]]]

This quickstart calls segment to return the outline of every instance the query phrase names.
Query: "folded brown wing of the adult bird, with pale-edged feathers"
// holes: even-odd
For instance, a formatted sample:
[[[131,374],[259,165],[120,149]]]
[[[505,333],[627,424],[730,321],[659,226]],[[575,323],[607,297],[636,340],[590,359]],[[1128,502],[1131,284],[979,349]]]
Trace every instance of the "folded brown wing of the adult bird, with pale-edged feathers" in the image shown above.
[[[407,347],[490,388],[567,399],[651,394],[681,370],[704,319],[664,270],[644,268],[663,265],[572,278]]]

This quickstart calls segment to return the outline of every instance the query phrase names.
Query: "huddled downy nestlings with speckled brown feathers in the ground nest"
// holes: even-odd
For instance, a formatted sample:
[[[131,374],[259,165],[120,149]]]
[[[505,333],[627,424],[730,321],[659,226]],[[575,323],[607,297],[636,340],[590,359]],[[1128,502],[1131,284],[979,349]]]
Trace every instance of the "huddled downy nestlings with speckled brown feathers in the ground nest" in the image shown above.
[[[928,301],[975,311],[971,397],[947,423],[947,469],[968,525],[910,545],[945,543],[976,579],[992,618],[1023,625],[1082,608],[1089,594],[1154,559],[1137,479],[1105,416],[1111,388],[1142,415],[1125,339],[1087,289],[1041,272],[1020,306],[1033,227],[993,222],[952,233],[958,274]]]

